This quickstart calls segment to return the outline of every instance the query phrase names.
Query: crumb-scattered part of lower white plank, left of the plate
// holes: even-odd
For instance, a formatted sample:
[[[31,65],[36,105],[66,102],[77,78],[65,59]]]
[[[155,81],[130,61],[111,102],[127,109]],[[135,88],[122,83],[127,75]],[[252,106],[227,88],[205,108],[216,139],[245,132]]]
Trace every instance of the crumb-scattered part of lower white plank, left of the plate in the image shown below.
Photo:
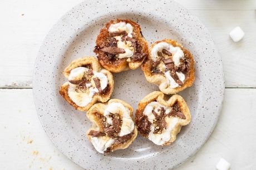
[[[46,135],[36,114],[32,89],[0,89],[0,96],[0,169],[82,170]]]

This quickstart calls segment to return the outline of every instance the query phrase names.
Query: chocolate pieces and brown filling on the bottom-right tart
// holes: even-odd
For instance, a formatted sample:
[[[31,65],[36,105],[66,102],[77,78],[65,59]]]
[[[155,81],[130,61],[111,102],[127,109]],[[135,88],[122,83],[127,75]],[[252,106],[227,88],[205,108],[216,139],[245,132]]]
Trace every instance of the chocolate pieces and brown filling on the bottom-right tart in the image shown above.
[[[167,123],[165,121],[166,116],[167,117],[173,116],[173,117],[179,117],[180,119],[186,119],[185,115],[181,112],[180,106],[177,101],[172,106],[172,110],[170,113],[165,114],[164,107],[160,107],[160,109],[157,111],[160,112],[159,115],[154,110],[152,110],[152,114],[154,114],[155,116],[155,120],[153,122],[155,130],[153,133],[161,134],[163,130],[166,129],[167,127]],[[149,132],[151,131],[150,130],[151,122],[148,120],[147,116],[141,112],[139,116],[136,117],[135,123],[140,134],[144,137],[147,137],[149,135]]]

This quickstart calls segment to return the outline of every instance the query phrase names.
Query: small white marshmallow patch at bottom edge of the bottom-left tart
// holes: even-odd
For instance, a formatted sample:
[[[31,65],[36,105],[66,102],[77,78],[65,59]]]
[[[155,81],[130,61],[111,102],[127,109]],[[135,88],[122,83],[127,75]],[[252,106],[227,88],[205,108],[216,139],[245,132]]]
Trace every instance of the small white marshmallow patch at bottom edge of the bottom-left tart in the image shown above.
[[[114,140],[107,136],[99,136],[99,137],[92,137],[91,142],[98,152],[104,153],[107,150],[107,148],[114,143]]]

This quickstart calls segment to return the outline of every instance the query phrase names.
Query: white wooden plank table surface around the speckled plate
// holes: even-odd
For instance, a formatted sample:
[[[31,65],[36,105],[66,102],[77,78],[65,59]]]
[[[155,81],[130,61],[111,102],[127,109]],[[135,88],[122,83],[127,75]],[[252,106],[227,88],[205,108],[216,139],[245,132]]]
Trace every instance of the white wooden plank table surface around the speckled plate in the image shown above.
[[[82,169],[51,143],[32,94],[37,51],[53,24],[82,0],[0,1],[0,169]],[[225,99],[213,134],[177,169],[256,169],[256,1],[180,0],[209,29],[223,60]],[[229,32],[245,37],[234,43]]]

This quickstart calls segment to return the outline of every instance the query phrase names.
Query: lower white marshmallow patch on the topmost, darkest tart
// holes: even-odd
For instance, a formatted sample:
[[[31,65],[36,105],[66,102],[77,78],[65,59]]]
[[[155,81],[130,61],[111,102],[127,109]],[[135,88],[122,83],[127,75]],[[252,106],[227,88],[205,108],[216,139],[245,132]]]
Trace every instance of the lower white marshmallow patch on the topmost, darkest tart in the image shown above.
[[[134,55],[134,48],[131,47],[131,42],[130,41],[126,41],[126,44],[125,44],[125,42],[121,41],[121,37],[120,36],[116,36],[115,38],[117,40],[117,47],[118,48],[122,48],[122,49],[125,50],[125,53],[118,54],[118,58],[120,58],[120,59],[122,59],[122,58],[129,58],[132,55]]]

